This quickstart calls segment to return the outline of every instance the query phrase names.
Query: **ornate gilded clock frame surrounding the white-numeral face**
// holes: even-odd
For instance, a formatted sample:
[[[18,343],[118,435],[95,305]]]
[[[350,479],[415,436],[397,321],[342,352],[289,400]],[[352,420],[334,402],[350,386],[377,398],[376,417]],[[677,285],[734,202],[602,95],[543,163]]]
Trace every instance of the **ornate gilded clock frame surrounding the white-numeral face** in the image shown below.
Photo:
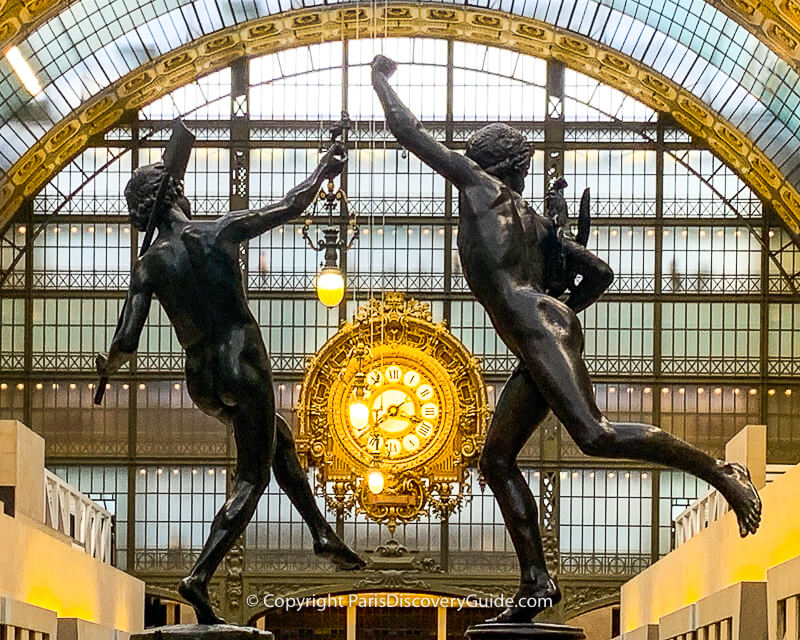
[[[360,446],[348,415],[368,372],[391,364],[424,372],[441,402],[433,437],[399,460]],[[296,412],[298,451],[317,467],[329,507],[355,508],[391,528],[428,508],[449,515],[468,499],[468,469],[490,413],[479,360],[444,323],[433,322],[428,304],[398,292],[369,300],[309,359]],[[371,470],[386,480],[378,495],[367,487]]]

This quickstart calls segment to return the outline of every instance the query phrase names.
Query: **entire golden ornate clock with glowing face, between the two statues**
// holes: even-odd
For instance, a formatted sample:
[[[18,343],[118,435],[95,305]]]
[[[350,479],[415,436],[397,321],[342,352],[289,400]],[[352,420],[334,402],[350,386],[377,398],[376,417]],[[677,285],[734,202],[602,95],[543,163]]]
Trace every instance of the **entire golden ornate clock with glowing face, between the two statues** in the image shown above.
[[[478,360],[427,304],[387,293],[308,362],[297,446],[329,506],[394,527],[461,504],[488,413]]]

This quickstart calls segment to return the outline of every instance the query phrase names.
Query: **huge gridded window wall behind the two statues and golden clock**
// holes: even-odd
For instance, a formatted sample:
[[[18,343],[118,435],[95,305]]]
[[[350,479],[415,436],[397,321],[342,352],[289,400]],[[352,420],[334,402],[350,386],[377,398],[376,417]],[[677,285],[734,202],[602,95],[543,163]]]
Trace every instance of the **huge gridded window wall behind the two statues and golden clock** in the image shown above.
[[[120,123],[3,232],[3,271],[14,247],[27,252],[0,295],[0,418],[23,420],[44,435],[59,472],[90,495],[102,493],[93,474],[125,470],[116,491],[127,492],[132,505],[125,544],[118,541],[128,566],[163,571],[191,562],[224,499],[223,471],[235,453],[228,429],[192,403],[181,347],[157,302],[135,362],[112,379],[103,407],[91,403],[94,356],[111,339],[141,242],[124,215],[123,189],[132,168],[160,158],[173,117],[185,114],[198,137],[186,192],[200,219],[280,199],[314,169],[343,105],[354,120],[344,184],[360,238],[342,260],[349,295],[341,307],[316,301],[321,254],[303,238],[305,218],[252,240],[242,253],[277,408],[291,424],[308,356],[383,291],[431,304],[435,320],[445,320],[480,357],[492,405],[516,366],[466,286],[456,251],[457,192],[385,128],[369,83],[368,63],[378,52],[400,62],[393,83],[401,97],[452,148],[463,151],[487,121],[508,121],[525,133],[532,145],[525,197],[536,211],[554,152],[573,214],[590,188],[588,246],[616,278],[580,318],[595,396],[611,420],[653,423],[717,455],[744,424],[765,423],[770,461],[796,459],[800,299],[761,243],[778,250],[788,237],[711,152],[664,116],[575,71],[564,75],[563,119],[548,119],[548,63],[520,54],[425,39],[310,45],[235,63]],[[232,113],[234,79],[248,87],[244,115]],[[234,135],[243,130],[247,139]],[[315,241],[328,224],[348,229],[341,211],[329,217],[317,206],[307,215]],[[800,270],[793,247],[777,260],[789,273]],[[521,456],[537,501],[539,469],[552,468],[542,452],[552,451],[553,439],[569,467],[555,474],[557,491],[547,497],[564,572],[638,571],[668,548],[674,512],[704,490],[682,474],[589,461],[550,416]],[[88,476],[75,471],[84,468]],[[494,558],[487,572],[513,571],[491,491],[477,471],[469,483],[471,501],[446,526],[433,514],[393,534],[361,515],[340,525],[362,549],[393,535],[430,555],[446,540],[451,571],[470,571],[476,553]],[[321,498],[319,506],[325,508]],[[275,550],[308,557],[310,544],[273,483],[247,530],[245,567],[272,566]]]

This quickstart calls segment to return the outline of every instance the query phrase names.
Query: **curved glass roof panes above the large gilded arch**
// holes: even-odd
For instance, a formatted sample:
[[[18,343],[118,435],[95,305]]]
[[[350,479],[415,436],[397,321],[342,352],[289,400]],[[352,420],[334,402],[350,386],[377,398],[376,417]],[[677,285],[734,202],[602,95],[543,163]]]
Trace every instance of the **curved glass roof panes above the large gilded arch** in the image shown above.
[[[31,98],[8,62],[2,62],[0,170],[8,170],[83,101],[140,65],[222,28],[321,4],[314,0],[72,3],[19,44],[43,86],[39,97]],[[800,156],[795,153],[800,146],[800,77],[756,36],[703,0],[458,4],[537,19],[641,60],[729,120],[792,184],[800,184]]]

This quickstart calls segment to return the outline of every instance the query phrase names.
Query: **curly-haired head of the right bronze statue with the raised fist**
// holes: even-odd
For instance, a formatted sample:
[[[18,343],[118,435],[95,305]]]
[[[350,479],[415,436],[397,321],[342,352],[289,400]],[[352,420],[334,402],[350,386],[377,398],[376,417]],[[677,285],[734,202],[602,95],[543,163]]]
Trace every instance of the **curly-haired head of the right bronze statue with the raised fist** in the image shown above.
[[[467,157],[517,193],[525,188],[531,151],[525,136],[513,127],[501,122],[483,127],[467,141]]]

